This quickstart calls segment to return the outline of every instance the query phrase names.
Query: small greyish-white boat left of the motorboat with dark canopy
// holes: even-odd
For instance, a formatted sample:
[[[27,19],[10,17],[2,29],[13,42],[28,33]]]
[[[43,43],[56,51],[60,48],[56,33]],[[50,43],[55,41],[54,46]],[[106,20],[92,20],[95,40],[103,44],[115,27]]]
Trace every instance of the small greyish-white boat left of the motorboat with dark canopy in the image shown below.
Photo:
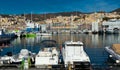
[[[24,58],[30,58],[34,62],[35,53],[31,53],[27,49],[22,49],[18,55],[13,55],[11,63],[21,63]]]

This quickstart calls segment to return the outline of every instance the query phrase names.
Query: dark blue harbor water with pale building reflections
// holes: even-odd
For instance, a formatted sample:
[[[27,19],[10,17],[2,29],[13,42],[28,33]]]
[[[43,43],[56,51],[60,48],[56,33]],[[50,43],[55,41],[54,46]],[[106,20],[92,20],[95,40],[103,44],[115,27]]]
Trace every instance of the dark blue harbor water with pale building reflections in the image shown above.
[[[40,43],[43,40],[56,40],[58,46],[62,46],[62,43],[65,41],[82,41],[84,43],[85,51],[90,57],[92,67],[98,70],[99,68],[107,69],[115,66],[108,57],[108,53],[105,51],[104,47],[111,46],[114,43],[120,43],[120,35],[54,34],[52,36],[36,36],[28,38],[18,37],[12,40],[8,46],[3,47],[0,55],[4,56],[7,52],[18,54],[23,48],[37,54],[43,47]]]

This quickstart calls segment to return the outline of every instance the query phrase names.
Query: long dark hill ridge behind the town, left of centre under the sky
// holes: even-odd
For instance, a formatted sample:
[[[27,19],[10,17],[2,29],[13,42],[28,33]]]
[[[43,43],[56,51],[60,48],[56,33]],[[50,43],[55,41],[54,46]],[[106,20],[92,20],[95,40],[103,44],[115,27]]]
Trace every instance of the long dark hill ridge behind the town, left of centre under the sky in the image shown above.
[[[71,16],[71,15],[79,15],[79,14],[83,14],[83,13],[78,11],[73,11],[73,12],[60,12],[60,13],[47,13],[47,14],[32,14],[32,18],[33,18],[32,20],[41,21],[41,20],[53,18],[56,16]],[[24,15],[22,14],[22,16]],[[26,14],[25,17],[27,19],[31,19],[31,14]]]

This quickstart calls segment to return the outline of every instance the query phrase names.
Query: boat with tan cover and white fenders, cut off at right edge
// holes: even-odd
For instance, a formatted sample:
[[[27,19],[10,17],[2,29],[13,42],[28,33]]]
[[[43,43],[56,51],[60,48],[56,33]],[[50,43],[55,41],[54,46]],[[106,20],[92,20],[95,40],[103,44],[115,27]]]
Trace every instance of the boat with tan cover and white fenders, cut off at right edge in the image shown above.
[[[113,44],[112,47],[107,46],[105,50],[109,53],[109,57],[113,58],[116,63],[120,64],[120,44]]]

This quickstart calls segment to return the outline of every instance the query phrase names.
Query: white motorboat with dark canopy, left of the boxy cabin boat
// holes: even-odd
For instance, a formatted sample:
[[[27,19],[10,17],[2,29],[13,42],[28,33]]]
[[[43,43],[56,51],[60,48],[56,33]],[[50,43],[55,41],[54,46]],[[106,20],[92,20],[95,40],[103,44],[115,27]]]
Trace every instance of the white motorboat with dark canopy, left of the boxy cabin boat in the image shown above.
[[[46,45],[46,44],[44,44]],[[35,57],[35,66],[37,68],[52,67],[58,65],[59,54],[56,46],[48,45],[38,52]]]

